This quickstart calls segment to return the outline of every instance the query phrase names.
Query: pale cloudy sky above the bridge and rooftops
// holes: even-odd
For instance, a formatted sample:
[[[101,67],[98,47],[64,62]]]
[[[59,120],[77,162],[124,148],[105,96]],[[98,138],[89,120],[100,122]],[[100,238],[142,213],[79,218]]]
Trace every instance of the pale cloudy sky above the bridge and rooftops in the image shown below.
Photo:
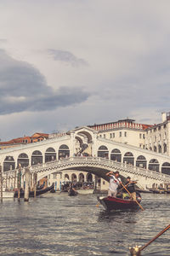
[[[1,0],[0,139],[169,112],[169,0]]]

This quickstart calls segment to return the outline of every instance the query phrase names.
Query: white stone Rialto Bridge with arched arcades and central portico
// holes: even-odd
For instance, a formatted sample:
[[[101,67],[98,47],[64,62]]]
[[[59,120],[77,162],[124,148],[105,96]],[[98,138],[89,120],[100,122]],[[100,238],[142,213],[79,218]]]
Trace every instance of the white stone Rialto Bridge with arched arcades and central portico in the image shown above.
[[[80,127],[63,137],[1,150],[0,162],[6,187],[16,186],[18,166],[29,167],[37,181],[53,173],[89,172],[107,180],[105,173],[118,170],[122,177],[138,179],[143,189],[170,183],[170,157],[98,137]],[[24,182],[24,176],[23,176]]]

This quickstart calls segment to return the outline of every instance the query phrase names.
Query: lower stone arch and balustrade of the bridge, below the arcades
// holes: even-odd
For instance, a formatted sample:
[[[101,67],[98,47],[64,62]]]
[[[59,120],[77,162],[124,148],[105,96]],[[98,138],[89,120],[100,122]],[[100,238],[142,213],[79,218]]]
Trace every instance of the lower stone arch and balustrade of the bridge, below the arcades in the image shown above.
[[[127,176],[131,176],[133,179],[138,180],[140,189],[146,189],[147,187],[151,188],[153,185],[170,183],[170,176],[162,174],[161,172],[154,172],[145,168],[99,157],[71,157],[64,160],[50,161],[42,165],[30,166],[29,169],[31,177],[33,177],[34,173],[37,173],[37,181],[52,173],[65,170],[77,170],[93,173],[98,177],[104,178],[106,181],[108,181],[108,177],[105,176],[106,172],[119,171],[122,180]],[[7,188],[10,188],[11,186],[13,188],[16,187],[17,172],[18,170],[3,173],[3,180]],[[25,169],[22,169],[21,172],[23,174],[22,177],[24,182]]]

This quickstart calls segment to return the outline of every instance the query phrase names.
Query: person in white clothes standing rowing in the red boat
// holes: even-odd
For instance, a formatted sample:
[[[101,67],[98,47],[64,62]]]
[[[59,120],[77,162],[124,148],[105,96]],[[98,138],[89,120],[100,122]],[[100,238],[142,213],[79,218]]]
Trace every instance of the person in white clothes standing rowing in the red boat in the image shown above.
[[[119,172],[116,171],[115,174],[113,172],[107,172],[106,176],[110,177],[108,196],[116,197],[117,189],[122,184],[121,178],[119,177]]]

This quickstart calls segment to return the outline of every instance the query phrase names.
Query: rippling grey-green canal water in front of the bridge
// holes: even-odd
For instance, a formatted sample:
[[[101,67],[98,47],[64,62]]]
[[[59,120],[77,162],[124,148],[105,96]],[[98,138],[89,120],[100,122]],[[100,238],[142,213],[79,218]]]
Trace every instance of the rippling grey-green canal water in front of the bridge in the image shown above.
[[[144,245],[170,224],[170,195],[142,198],[144,212],[105,212],[96,195],[3,200],[0,255],[129,255],[129,246]],[[170,230],[142,255],[170,255]]]

